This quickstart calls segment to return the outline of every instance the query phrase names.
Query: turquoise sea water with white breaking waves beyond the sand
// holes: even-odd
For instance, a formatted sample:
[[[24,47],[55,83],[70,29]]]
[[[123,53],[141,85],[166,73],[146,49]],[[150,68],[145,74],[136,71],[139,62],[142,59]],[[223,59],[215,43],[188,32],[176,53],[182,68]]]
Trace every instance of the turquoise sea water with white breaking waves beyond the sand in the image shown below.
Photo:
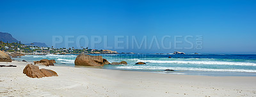
[[[126,61],[127,65],[105,65],[104,69],[149,71],[180,75],[256,76],[256,54],[92,54],[103,56],[110,63]],[[27,55],[15,60],[39,61],[55,59],[58,66],[74,66],[77,55]],[[172,57],[172,58],[168,58]],[[135,64],[145,62],[147,64]],[[163,71],[171,69],[175,71]]]

